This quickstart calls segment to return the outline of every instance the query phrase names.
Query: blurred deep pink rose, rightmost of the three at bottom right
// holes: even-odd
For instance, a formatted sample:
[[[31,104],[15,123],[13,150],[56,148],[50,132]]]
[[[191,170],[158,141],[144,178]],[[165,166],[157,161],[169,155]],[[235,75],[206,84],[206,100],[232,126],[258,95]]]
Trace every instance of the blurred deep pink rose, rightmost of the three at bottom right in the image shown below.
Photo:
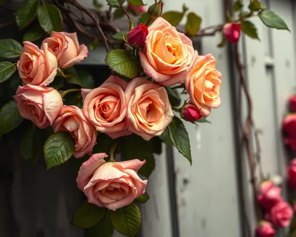
[[[266,212],[265,219],[277,227],[287,227],[293,217],[293,209],[289,203],[280,201],[270,211]]]

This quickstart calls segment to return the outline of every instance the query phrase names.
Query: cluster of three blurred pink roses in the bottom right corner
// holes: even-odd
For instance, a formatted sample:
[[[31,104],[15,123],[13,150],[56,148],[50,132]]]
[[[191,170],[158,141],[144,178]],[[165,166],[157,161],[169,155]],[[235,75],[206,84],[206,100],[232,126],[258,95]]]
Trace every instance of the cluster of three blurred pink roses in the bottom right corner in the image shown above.
[[[264,219],[257,227],[259,237],[274,237],[276,227],[287,227],[293,217],[293,209],[281,197],[281,188],[276,187],[272,181],[264,181],[260,185],[258,202],[264,209]]]

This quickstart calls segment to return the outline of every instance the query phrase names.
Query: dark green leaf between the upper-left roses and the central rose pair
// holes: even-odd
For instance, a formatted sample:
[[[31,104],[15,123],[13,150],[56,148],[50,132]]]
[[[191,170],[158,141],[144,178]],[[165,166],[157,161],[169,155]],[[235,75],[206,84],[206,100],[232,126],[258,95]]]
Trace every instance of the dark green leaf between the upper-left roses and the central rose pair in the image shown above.
[[[89,73],[83,70],[76,71],[74,67],[67,69],[66,78],[69,83],[80,85],[83,88],[95,87],[95,82]]]

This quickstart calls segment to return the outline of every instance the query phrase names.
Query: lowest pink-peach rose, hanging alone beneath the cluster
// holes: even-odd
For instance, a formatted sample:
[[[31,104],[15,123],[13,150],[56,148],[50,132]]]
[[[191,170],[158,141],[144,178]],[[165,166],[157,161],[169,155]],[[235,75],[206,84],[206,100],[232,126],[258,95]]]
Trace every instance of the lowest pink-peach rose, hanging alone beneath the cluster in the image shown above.
[[[137,174],[145,160],[106,162],[105,157],[105,153],[98,153],[85,161],[76,182],[88,202],[115,211],[145,193],[147,180]]]

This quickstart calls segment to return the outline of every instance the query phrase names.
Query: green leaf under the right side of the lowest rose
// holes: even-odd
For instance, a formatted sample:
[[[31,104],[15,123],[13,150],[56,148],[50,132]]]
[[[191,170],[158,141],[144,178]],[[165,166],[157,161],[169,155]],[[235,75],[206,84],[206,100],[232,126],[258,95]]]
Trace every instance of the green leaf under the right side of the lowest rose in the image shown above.
[[[120,234],[134,237],[140,229],[141,212],[138,205],[132,202],[116,211],[110,211],[110,220]]]

